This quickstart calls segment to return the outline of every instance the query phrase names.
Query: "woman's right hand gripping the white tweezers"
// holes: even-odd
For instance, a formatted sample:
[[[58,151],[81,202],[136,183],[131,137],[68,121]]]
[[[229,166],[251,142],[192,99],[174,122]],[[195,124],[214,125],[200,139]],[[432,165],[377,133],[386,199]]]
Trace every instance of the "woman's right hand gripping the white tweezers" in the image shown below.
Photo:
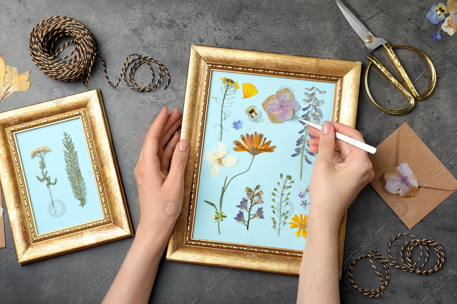
[[[309,150],[317,153],[309,185],[309,212],[313,217],[340,226],[357,194],[374,177],[368,153],[335,138],[335,131],[364,142],[359,131],[344,124],[324,121],[322,130],[309,128]],[[311,219],[311,216],[310,216]]]

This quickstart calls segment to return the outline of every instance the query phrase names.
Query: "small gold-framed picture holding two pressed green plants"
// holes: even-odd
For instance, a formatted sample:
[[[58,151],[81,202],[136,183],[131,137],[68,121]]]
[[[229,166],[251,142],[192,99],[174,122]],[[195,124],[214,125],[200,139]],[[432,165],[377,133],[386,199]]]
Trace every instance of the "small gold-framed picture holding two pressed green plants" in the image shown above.
[[[133,237],[100,90],[0,113],[0,167],[21,265]]]

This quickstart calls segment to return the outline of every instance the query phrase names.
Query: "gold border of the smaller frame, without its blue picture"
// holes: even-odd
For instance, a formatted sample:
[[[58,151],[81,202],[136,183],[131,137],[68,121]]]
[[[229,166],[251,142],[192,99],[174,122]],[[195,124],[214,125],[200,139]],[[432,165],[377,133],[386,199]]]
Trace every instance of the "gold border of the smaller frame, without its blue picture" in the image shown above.
[[[38,205],[31,202],[22,165],[30,151],[20,151],[16,135],[71,119],[81,122],[87,151],[80,153],[89,155],[102,217],[38,233],[33,212]],[[113,147],[98,89],[0,113],[1,186],[21,265],[134,236]]]

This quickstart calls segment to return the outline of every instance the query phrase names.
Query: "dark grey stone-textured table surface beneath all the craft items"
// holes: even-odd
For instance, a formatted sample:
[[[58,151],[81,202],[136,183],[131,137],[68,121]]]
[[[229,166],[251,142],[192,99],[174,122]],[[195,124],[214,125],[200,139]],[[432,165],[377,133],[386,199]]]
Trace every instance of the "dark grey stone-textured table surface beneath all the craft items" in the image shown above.
[[[356,128],[364,131],[369,144],[376,146],[407,122],[443,163],[455,159],[457,37],[441,31],[442,41],[430,39],[439,26],[431,24],[425,14],[436,3],[433,0],[347,2],[363,16],[374,35],[392,45],[411,45],[428,54],[438,75],[432,97],[419,102],[412,112],[399,116],[378,110],[367,98],[361,83]],[[100,62],[87,87],[81,82],[57,82],[45,76],[29,56],[28,38],[33,26],[53,15],[74,17],[90,29],[103,51],[112,79],[117,79],[128,54],[139,53],[168,67],[170,87],[150,93],[135,92],[123,83],[116,89],[110,88]],[[27,92],[14,93],[2,101],[0,111],[100,88],[133,224],[137,227],[140,210],[133,169],[157,110],[164,106],[182,110],[192,44],[356,60],[363,63],[363,71],[367,66],[362,41],[333,0],[1,0],[0,53],[7,64],[18,67],[20,72],[32,71],[32,86]],[[382,50],[375,54],[394,70]],[[430,82],[425,61],[405,50],[399,50],[398,55],[413,82],[425,91],[423,88]],[[394,74],[399,78],[398,73]],[[137,75],[138,82],[149,82],[145,67]],[[402,107],[404,98],[379,72],[372,71],[370,81],[372,93],[381,103]],[[453,161],[447,165],[453,175],[457,175],[456,164]],[[457,277],[446,276],[457,270],[456,198],[454,193],[409,230],[370,185],[365,187],[348,210],[341,303],[456,303]],[[4,215],[6,248],[0,249],[0,260],[4,261],[0,269],[0,303],[100,303],[132,243],[132,239],[112,242],[26,266],[19,266],[15,260],[5,263],[4,259],[14,255],[15,250],[6,212]],[[383,296],[372,299],[358,293],[349,281],[348,263],[368,243],[364,253],[375,249],[387,257],[388,242],[401,232],[439,242],[446,252],[443,268],[421,276],[391,267],[391,280]],[[111,271],[113,274],[107,276]],[[207,290],[210,280],[220,271],[218,267],[163,260],[150,303],[295,303],[296,276],[231,269]],[[355,275],[356,283],[362,288],[375,289],[380,285],[368,260],[356,266]]]

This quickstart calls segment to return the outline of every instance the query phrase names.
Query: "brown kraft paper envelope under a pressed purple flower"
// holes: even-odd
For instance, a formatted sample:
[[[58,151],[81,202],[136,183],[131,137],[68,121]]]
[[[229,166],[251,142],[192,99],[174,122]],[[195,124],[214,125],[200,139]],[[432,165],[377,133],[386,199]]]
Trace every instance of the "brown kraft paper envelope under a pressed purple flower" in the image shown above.
[[[369,155],[375,174],[370,185],[409,229],[456,191],[457,180],[408,124],[401,125],[376,148],[376,154]],[[408,163],[417,175],[419,190],[414,197],[403,198],[385,188],[384,173],[401,163]]]

